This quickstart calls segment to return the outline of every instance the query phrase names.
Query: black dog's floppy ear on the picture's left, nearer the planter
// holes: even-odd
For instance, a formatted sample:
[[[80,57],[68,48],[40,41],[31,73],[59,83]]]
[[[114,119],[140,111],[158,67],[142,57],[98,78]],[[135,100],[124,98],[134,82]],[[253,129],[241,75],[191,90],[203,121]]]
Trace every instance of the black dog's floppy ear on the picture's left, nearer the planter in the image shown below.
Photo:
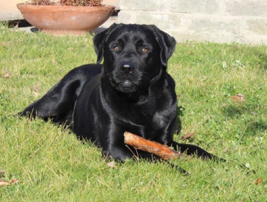
[[[108,29],[105,29],[104,31],[101,31],[100,33],[96,34],[93,38],[94,42],[94,48],[97,55],[97,61],[96,63],[99,64],[104,56],[104,46],[105,42],[107,41],[110,33],[117,27],[119,24],[113,24]]]

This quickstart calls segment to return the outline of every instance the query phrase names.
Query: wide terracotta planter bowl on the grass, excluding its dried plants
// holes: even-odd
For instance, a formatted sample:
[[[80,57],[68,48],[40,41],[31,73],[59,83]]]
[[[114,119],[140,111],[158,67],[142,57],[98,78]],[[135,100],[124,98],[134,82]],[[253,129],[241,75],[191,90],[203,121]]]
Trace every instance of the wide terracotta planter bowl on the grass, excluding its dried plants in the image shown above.
[[[103,24],[115,7],[77,7],[17,4],[23,17],[40,31],[51,34],[81,35]]]

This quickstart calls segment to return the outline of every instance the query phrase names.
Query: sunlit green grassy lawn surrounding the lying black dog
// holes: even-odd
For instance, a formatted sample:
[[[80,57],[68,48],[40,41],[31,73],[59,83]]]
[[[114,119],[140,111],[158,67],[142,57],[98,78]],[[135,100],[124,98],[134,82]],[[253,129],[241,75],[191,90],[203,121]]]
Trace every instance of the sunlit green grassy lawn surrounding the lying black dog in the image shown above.
[[[1,26],[1,25],[0,25]],[[69,70],[94,63],[92,36],[53,37],[0,29],[0,118],[40,98]],[[169,60],[184,143],[227,160],[140,160],[107,166],[95,146],[42,120],[0,124],[0,201],[266,201],[267,47],[177,44]],[[244,95],[236,103],[231,96]],[[242,166],[243,165],[243,166]],[[0,172],[1,172],[0,171]],[[263,182],[255,183],[262,178]]]

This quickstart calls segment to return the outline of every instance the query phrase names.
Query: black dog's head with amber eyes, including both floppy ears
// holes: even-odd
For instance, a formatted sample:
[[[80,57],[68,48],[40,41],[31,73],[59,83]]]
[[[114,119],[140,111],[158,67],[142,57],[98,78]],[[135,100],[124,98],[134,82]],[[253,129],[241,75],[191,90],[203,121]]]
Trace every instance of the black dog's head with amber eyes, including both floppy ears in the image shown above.
[[[104,75],[122,93],[149,88],[174,52],[176,41],[154,25],[113,24],[96,34],[97,63],[104,57]]]

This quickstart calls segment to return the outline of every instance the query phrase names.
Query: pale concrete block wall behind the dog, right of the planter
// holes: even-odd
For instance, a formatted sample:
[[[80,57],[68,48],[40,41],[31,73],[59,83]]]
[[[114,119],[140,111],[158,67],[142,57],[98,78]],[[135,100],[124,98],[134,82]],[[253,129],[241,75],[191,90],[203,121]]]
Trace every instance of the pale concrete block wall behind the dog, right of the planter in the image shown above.
[[[155,24],[177,42],[267,44],[267,0],[120,0],[118,22]]]

